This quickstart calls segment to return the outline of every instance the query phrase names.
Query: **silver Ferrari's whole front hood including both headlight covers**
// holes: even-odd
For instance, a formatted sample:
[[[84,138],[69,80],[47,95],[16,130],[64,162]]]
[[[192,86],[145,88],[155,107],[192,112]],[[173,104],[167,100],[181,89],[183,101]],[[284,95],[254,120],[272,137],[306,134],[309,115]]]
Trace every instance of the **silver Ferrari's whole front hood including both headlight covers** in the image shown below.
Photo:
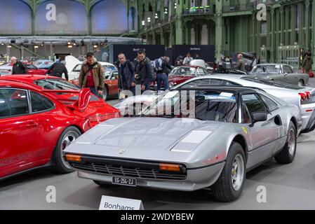
[[[77,139],[76,144],[114,150],[170,151],[177,144],[201,142],[219,125],[222,123],[196,119],[120,118],[98,125]]]

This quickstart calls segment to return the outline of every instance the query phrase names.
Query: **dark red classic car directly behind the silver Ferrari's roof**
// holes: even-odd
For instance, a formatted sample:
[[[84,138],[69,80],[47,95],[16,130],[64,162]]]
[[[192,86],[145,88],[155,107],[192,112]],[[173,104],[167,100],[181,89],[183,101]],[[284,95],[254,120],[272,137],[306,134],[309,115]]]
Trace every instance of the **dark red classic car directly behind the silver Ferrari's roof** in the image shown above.
[[[199,66],[177,66],[168,76],[168,83],[170,87],[184,83],[185,81],[195,78],[196,76],[206,76],[210,73]]]

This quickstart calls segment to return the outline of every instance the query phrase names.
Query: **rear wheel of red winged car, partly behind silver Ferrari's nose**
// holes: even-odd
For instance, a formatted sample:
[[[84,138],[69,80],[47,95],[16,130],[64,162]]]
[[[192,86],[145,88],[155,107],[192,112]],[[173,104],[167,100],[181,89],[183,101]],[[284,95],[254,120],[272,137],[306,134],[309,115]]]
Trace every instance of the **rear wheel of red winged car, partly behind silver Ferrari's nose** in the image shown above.
[[[70,167],[70,165],[65,161],[63,158],[62,151],[65,149],[65,147],[69,146],[67,144],[67,137],[69,139],[69,143],[74,141],[77,137],[81,135],[81,132],[76,127],[70,126],[67,127],[62,134],[60,134],[60,137],[58,139],[58,142],[55,146],[55,149],[53,151],[53,171],[58,174],[69,174],[71,172],[74,172],[74,169]]]

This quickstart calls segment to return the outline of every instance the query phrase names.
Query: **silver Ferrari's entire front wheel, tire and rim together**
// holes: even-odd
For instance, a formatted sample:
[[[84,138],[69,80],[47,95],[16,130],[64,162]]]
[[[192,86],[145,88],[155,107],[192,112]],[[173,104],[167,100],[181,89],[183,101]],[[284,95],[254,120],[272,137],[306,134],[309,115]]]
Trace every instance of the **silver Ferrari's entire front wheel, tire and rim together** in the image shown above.
[[[243,191],[245,175],[245,153],[240,144],[233,142],[222,173],[212,187],[215,200],[232,202],[238,199]]]

